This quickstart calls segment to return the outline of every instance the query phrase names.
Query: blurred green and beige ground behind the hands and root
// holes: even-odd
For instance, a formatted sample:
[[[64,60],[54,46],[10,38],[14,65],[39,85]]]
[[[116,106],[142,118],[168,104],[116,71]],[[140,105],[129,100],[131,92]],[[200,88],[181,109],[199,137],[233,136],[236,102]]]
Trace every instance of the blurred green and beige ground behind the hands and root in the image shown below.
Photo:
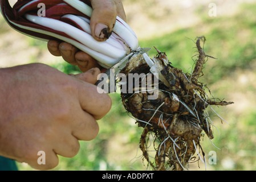
[[[14,2],[14,1],[13,1]],[[204,35],[209,59],[201,82],[220,100],[233,101],[212,111],[212,142],[205,136],[201,145],[207,170],[256,169],[256,1],[242,0],[123,0],[128,24],[136,32],[141,47],[157,47],[166,52],[174,67],[191,72],[196,55],[195,40]],[[79,69],[47,51],[46,42],[31,39],[11,29],[0,15],[0,67],[45,63],[65,73]],[[156,55],[155,49],[149,52]],[[99,121],[96,139],[80,142],[74,158],[59,157],[54,170],[142,170],[147,169],[139,149],[142,129],[130,118],[119,94],[110,94],[111,111]],[[64,99],[64,98],[63,98]],[[216,164],[209,164],[215,151]],[[20,170],[30,170],[18,163]],[[205,164],[190,164],[190,170],[205,170]]]

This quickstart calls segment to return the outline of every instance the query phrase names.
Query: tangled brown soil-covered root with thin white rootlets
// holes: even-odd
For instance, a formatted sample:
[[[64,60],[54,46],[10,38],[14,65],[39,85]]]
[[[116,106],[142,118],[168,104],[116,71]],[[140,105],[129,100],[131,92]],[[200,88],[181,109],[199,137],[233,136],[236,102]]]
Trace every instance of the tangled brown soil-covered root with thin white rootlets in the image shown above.
[[[197,38],[198,59],[192,74],[174,68],[165,53],[157,50],[157,56],[152,60],[160,73],[158,96],[155,100],[148,99],[152,92],[145,89],[145,92],[121,93],[125,109],[136,118],[138,126],[144,128],[140,138],[140,149],[148,165],[155,170],[186,169],[189,162],[195,160],[196,152],[198,158],[204,161],[199,155],[199,151],[202,151],[202,131],[213,139],[212,123],[205,114],[206,107],[233,104],[210,100],[205,93],[204,84],[198,81],[202,76],[205,59],[209,57],[201,48],[201,41],[205,42],[204,36]],[[147,75],[151,72],[152,67],[145,60],[145,55],[132,57],[123,71],[127,78],[128,73]],[[140,91],[143,91],[143,88],[140,88]],[[156,151],[153,159],[149,156],[150,135],[153,135],[153,146]],[[204,158],[203,151],[202,155]]]

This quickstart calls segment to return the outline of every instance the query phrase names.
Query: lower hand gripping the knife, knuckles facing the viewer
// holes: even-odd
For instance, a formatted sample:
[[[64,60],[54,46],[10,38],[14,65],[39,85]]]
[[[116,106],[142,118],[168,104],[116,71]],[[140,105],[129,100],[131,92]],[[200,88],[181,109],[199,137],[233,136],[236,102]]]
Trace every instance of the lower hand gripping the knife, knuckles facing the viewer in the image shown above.
[[[57,155],[75,156],[78,140],[94,139],[96,120],[111,108],[93,85],[99,73],[69,76],[44,64],[0,69],[0,155],[36,169],[54,168]],[[46,164],[38,164],[38,151]]]

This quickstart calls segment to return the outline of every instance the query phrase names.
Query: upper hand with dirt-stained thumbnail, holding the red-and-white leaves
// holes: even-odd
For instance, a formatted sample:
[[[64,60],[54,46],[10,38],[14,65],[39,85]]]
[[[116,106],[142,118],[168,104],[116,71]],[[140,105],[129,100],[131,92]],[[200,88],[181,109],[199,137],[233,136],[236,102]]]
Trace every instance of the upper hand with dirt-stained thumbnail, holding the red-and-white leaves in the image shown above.
[[[116,15],[126,21],[124,8],[121,0],[91,0],[92,16],[91,31],[92,36],[97,41],[104,41],[108,36],[100,34],[104,28],[107,28],[108,34],[112,32],[113,25],[116,22]],[[97,61],[85,52],[66,42],[50,40],[47,44],[49,52],[54,56],[62,56],[65,61],[72,65],[78,65],[83,72],[91,68],[101,68]]]

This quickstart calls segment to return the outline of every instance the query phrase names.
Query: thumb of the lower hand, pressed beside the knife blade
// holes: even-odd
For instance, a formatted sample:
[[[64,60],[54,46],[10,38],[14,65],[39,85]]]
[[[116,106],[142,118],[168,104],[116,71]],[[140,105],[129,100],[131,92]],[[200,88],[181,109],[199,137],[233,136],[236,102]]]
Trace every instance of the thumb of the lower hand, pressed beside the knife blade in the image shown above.
[[[99,68],[92,68],[84,73],[79,73],[76,75],[70,74],[70,76],[73,76],[75,78],[78,78],[79,80],[89,82],[90,84],[95,84],[97,81],[97,75],[99,75],[100,69]]]

